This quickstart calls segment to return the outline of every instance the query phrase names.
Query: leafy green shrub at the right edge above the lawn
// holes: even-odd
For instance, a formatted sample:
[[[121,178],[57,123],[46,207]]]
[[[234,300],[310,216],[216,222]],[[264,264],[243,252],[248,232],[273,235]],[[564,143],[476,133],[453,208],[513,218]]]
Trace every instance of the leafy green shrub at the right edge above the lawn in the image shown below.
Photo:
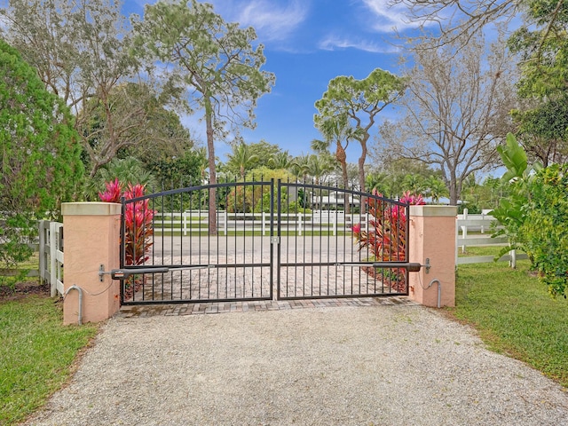
[[[539,280],[552,296],[566,297],[568,283],[568,165],[529,168],[525,150],[509,134],[507,145],[498,148],[507,167],[502,177],[510,193],[493,210],[512,248],[529,256]],[[503,248],[499,258],[510,248]]]

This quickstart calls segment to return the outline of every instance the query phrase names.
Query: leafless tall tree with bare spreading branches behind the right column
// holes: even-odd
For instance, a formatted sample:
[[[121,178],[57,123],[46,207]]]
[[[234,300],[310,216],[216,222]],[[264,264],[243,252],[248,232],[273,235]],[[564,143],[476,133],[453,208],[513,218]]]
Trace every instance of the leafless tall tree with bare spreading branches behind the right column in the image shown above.
[[[504,44],[486,51],[481,36],[416,50],[414,64],[404,118],[381,129],[383,156],[436,165],[456,205],[463,181],[497,159],[515,105],[513,71]]]

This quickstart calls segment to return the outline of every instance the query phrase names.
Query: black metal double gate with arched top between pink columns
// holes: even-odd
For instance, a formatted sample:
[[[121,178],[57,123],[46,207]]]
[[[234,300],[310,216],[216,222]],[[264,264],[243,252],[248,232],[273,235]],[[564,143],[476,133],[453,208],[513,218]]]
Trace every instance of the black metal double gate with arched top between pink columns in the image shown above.
[[[122,199],[113,277],[122,304],[407,295],[407,217],[378,194],[274,180]]]

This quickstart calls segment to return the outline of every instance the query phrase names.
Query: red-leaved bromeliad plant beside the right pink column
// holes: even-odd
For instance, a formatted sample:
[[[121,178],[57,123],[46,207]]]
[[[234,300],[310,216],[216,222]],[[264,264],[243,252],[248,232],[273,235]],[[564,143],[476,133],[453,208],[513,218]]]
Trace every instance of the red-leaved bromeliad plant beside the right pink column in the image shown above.
[[[406,261],[406,206],[391,204],[383,199],[383,195],[373,190],[374,197],[368,197],[367,213],[369,217],[367,229],[361,231],[361,225],[353,225],[353,235],[359,244],[359,251],[367,248],[372,259],[380,262]],[[403,194],[400,202],[410,205],[425,204],[422,195]],[[375,274],[374,268],[365,268],[366,272]],[[383,283],[398,292],[406,290],[406,271],[404,269],[380,269],[379,275]]]

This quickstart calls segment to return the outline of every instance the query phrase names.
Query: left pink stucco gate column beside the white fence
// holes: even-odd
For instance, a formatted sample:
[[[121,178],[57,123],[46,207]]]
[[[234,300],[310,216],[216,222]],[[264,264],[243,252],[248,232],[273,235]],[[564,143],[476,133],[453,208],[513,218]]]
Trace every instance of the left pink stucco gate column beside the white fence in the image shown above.
[[[64,232],[64,324],[76,324],[79,291],[83,293],[82,322],[97,322],[120,307],[119,281],[105,271],[119,267],[121,205],[109,202],[66,202],[61,208]],[[69,290],[72,286],[73,288]],[[67,291],[68,290],[68,291]]]

